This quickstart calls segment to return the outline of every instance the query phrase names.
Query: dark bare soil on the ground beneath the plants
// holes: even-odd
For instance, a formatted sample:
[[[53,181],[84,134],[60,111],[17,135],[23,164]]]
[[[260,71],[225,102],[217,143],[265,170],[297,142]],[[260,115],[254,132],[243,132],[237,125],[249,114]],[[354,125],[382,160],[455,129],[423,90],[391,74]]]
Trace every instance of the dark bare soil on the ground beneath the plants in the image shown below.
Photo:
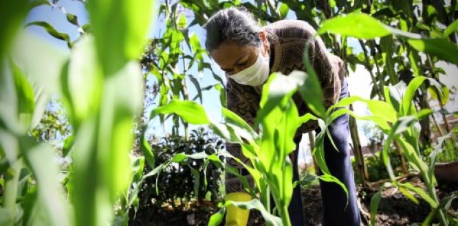
[[[418,177],[406,179],[414,186],[424,188]],[[406,181],[404,181],[406,182]],[[371,197],[377,190],[370,188],[358,188],[358,204],[362,216],[362,224],[369,225],[369,206]],[[450,184],[439,181],[437,195],[442,200],[451,194],[458,195],[458,184]],[[417,197],[419,204],[413,203],[400,193],[397,188],[385,188],[382,192],[382,199],[378,207],[376,225],[412,225],[420,224],[428,213],[428,203]],[[318,186],[303,190],[303,208],[309,225],[321,225],[322,205],[320,188]],[[169,206],[157,207],[152,205],[148,210],[140,210],[136,217],[129,222],[129,225],[206,225],[210,214],[217,212],[215,203],[204,201],[188,203],[182,210],[173,210]],[[458,223],[458,199],[452,201],[448,214],[455,218]],[[131,217],[132,219],[133,217]],[[438,223],[433,221],[433,223]],[[261,214],[257,211],[250,212],[248,225],[264,225]]]

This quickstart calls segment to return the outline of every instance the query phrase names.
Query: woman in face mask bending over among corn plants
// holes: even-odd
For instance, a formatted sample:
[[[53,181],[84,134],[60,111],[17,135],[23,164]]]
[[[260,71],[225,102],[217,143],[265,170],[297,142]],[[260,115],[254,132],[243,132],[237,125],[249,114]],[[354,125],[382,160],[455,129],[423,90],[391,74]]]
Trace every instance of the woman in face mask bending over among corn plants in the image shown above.
[[[342,60],[328,53],[320,38],[313,38],[315,30],[304,21],[285,20],[259,27],[245,8],[228,8],[213,15],[204,27],[207,32],[206,49],[228,77],[227,107],[251,125],[259,110],[261,88],[270,73],[288,75],[294,70],[305,71],[303,51],[307,42],[311,44],[309,56],[323,88],[325,107],[329,108],[347,95]],[[309,112],[298,94],[294,95],[294,102],[299,114]],[[294,138],[296,147],[299,147],[302,134],[314,129],[318,129],[316,121],[299,127]],[[323,225],[360,225],[349,160],[348,116],[336,119],[329,131],[338,151],[326,138],[325,160],[331,174],[347,186],[349,199],[347,205],[347,196],[337,184],[320,181]],[[239,146],[228,144],[227,149],[232,155],[249,162],[243,158]],[[294,180],[298,179],[297,157],[298,148],[292,156]],[[248,175],[235,161],[230,160],[228,164],[238,167],[242,175]],[[243,187],[237,178],[227,175],[226,190],[235,192],[243,190]],[[305,224],[300,186],[294,188],[289,212],[292,225]]]

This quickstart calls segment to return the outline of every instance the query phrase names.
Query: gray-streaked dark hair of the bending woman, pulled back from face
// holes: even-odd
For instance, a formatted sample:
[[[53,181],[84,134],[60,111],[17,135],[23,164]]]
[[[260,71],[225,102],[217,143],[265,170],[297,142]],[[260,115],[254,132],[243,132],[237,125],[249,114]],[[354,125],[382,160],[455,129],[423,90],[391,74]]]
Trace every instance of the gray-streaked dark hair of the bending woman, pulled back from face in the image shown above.
[[[205,47],[211,52],[217,49],[222,42],[231,40],[239,45],[259,47],[261,38],[259,32],[263,29],[246,8],[227,8],[219,10],[208,19],[204,25],[206,29]]]

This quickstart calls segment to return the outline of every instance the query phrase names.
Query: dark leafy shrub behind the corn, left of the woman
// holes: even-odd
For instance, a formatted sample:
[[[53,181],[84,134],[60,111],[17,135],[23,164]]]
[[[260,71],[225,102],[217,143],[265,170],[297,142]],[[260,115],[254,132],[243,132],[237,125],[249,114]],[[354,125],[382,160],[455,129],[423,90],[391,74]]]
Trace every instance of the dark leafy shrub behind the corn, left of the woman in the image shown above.
[[[156,165],[164,164],[177,153],[193,154],[205,152],[208,155],[221,149],[223,142],[203,128],[192,130],[186,140],[183,136],[172,135],[162,138],[162,141],[152,145]],[[208,163],[204,166],[203,159],[188,158],[166,166],[162,173],[146,177],[139,194],[140,208],[147,208],[154,203],[170,203],[175,207],[175,201],[204,199],[207,194],[215,201],[221,196],[219,192],[221,167]],[[205,171],[204,171],[205,169]],[[151,172],[151,167],[145,166],[144,175]],[[207,184],[205,184],[205,178]],[[159,190],[160,192],[157,192]]]

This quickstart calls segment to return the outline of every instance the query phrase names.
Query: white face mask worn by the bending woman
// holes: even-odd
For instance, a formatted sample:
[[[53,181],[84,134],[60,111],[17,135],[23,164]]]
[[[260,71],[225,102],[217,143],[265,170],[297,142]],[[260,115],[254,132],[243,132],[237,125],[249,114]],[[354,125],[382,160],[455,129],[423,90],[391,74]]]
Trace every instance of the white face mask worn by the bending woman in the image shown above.
[[[264,57],[261,50],[258,53],[258,58],[252,66],[243,69],[237,74],[230,75],[230,79],[234,79],[238,84],[248,86],[260,86],[267,81],[269,77],[269,56]]]

